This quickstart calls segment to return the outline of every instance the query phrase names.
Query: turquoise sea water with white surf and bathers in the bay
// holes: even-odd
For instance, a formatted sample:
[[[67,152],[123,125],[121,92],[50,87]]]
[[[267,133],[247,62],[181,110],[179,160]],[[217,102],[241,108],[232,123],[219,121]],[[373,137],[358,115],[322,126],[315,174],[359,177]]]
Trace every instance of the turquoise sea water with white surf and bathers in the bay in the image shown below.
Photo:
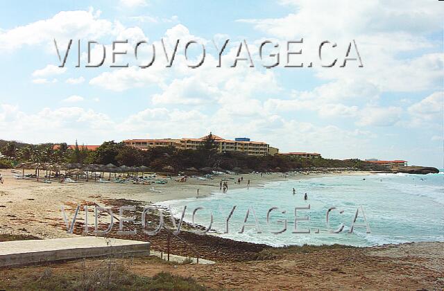
[[[365,180],[364,180],[365,178]],[[296,195],[292,189],[296,188]],[[309,199],[304,201],[303,194]],[[191,222],[193,210],[203,206],[196,213],[195,222],[210,224],[210,210],[214,221],[212,229],[222,237],[250,243],[283,245],[321,245],[339,243],[342,245],[382,245],[386,243],[407,243],[413,241],[444,241],[444,175],[375,174],[315,177],[302,180],[269,182],[258,188],[242,188],[228,193],[214,193],[210,197],[189,198],[162,202],[171,206],[176,217],[180,217],[183,206],[187,206],[185,220]],[[311,233],[292,233],[294,228],[294,207],[308,206],[309,210],[298,210],[298,217],[309,216],[309,221],[297,222],[298,229],[311,229]],[[225,220],[233,206],[237,208],[229,221],[229,233],[225,231]],[[270,224],[266,215],[271,207]],[[335,206],[330,213],[330,227],[325,216],[327,209]],[[357,209],[362,206],[370,228],[366,233],[364,216],[359,209],[353,233],[350,225]],[[248,224],[255,224],[253,210],[262,233],[255,226],[241,230],[246,211],[250,209]],[[343,213],[339,213],[343,210]],[[282,214],[280,211],[286,211]],[[277,220],[287,219],[287,231],[274,234],[283,228]],[[331,233],[343,223],[341,233]],[[319,233],[314,233],[319,229]]]

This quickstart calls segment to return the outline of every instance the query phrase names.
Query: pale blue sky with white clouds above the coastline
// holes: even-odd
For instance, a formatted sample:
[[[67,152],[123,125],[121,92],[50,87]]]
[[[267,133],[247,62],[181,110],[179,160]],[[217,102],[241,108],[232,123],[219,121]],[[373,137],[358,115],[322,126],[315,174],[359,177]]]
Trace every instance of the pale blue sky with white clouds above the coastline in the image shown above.
[[[1,1],[0,139],[97,145],[212,132],[280,152],[444,168],[443,16],[434,0]],[[62,59],[73,39],[64,67],[54,39]],[[128,67],[110,67],[112,42],[125,39],[116,63]],[[171,67],[162,39],[169,57],[180,40]],[[85,67],[89,41],[99,43],[90,64],[105,46],[101,67]],[[142,69],[151,45],[155,61]],[[203,64],[187,67],[202,46]],[[247,60],[232,67],[239,46]]]

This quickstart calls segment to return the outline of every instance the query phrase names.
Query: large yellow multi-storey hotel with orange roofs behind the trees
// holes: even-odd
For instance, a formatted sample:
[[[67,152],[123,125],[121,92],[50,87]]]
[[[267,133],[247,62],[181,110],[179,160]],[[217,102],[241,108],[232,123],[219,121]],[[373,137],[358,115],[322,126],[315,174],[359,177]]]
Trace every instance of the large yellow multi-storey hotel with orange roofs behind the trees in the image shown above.
[[[126,145],[148,150],[154,147],[173,146],[180,150],[196,150],[203,143],[207,136],[200,139],[127,139],[123,141]],[[277,148],[271,148],[268,143],[262,141],[250,141],[246,137],[234,139],[223,139],[220,136],[213,135],[214,143],[217,145],[217,152],[245,152],[247,155],[264,156],[273,155],[278,152]],[[272,149],[270,152],[270,148]]]

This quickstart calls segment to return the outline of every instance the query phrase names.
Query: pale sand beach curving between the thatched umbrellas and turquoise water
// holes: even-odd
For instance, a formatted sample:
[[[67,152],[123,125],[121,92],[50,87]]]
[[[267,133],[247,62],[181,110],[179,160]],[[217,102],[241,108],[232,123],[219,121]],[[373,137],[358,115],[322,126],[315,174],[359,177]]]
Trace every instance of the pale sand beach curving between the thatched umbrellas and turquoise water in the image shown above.
[[[33,173],[33,171],[26,170],[25,173]],[[220,175],[206,180],[189,177],[187,182],[167,179],[167,184],[155,185],[100,183],[91,180],[89,182],[79,180],[75,184],[61,184],[58,179],[53,179],[51,184],[46,184],[42,180],[37,182],[35,179],[15,179],[11,170],[1,170],[1,174],[4,179],[4,183],[0,184],[1,231],[31,234],[40,238],[58,238],[69,236],[65,226],[61,224],[60,206],[62,205],[67,211],[71,210],[70,212],[73,206],[85,204],[85,202],[107,206],[103,204],[103,200],[136,200],[146,202],[148,205],[196,197],[197,189],[199,189],[200,197],[219,193],[221,179],[228,179],[228,191],[230,191],[247,187],[248,180],[250,180],[250,187],[260,187],[266,182],[282,179],[307,179],[323,175],[369,175],[369,172],[291,174],[287,177],[284,177],[282,173],[265,174],[264,177],[260,174]],[[241,184],[234,184],[240,177],[244,177]],[[152,189],[161,193],[155,193]],[[93,220],[90,221],[93,222]]]

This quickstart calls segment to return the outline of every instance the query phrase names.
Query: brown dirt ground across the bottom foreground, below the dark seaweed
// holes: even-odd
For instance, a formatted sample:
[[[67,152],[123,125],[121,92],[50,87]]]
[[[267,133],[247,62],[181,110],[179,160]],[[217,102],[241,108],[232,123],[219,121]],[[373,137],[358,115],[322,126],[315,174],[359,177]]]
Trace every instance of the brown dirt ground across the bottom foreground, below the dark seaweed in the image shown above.
[[[173,265],[159,259],[112,259],[130,272],[154,276],[170,272],[191,276],[222,290],[443,290],[444,243],[411,243],[352,249],[326,249],[282,254],[271,261]],[[47,266],[0,270],[0,287],[38,279],[42,274],[82,272],[105,260],[80,260]],[[48,272],[48,270],[51,272]],[[13,283],[12,283],[13,282]]]

